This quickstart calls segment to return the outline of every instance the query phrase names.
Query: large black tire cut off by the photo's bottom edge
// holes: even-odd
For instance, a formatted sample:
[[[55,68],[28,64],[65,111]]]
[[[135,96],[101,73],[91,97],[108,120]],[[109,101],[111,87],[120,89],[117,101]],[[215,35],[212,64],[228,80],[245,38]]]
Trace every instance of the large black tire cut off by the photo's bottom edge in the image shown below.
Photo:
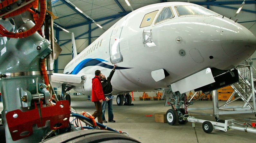
[[[61,134],[59,136],[46,139],[41,143],[95,143],[95,142],[113,142],[113,143],[140,143],[138,140],[123,134],[105,131],[105,130],[80,130]]]

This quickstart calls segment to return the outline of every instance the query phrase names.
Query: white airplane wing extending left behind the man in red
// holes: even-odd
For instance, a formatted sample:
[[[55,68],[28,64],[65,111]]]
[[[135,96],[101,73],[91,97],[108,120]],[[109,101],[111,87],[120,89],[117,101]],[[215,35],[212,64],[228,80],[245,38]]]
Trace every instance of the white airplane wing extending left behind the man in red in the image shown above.
[[[66,84],[66,86],[83,86],[86,80],[86,75],[70,75],[70,74],[58,74],[53,73],[51,75],[51,81],[53,83]]]

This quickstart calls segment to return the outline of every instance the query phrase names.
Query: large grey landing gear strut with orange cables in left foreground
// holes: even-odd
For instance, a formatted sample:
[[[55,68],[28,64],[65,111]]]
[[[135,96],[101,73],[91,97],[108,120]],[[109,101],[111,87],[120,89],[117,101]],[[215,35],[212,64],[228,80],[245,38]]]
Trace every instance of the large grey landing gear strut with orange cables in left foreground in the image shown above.
[[[121,131],[96,123],[88,113],[76,113],[67,100],[58,101],[51,86],[50,59],[54,59],[54,44],[50,42],[54,41],[51,0],[0,2],[0,86],[4,105],[3,124],[0,126],[5,127],[5,137],[1,136],[0,142],[61,142],[72,139],[90,142],[90,138],[94,138],[94,142],[102,139],[138,142],[124,136]],[[87,126],[76,128],[69,123],[70,116]],[[108,131],[79,132],[81,129]],[[71,131],[78,131],[84,136],[63,134]],[[60,134],[63,134],[61,140],[54,138]]]

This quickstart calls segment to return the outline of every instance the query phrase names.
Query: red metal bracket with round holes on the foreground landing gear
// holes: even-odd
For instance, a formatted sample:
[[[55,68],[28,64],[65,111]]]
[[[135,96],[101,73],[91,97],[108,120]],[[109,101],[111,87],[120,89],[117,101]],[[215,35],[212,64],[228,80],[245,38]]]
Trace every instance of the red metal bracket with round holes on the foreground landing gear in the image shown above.
[[[68,100],[58,101],[55,106],[50,107],[42,107],[42,103],[40,103],[40,108],[41,118],[36,104],[35,109],[26,112],[18,109],[6,113],[6,121],[14,141],[32,135],[32,126],[37,124],[38,128],[43,127],[47,120],[50,121],[51,130],[68,127],[70,116]]]

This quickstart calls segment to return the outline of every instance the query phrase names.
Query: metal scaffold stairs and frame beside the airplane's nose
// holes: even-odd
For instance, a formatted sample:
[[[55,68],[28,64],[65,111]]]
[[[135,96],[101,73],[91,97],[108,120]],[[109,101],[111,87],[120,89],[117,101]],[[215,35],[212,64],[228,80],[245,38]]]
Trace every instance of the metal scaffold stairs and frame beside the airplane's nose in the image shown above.
[[[221,106],[218,105],[218,96],[217,96],[217,91],[215,90],[213,91],[213,94],[212,94],[213,107],[187,109],[187,110],[213,109],[213,114],[198,113],[198,112],[191,112],[191,111],[189,111],[189,113],[214,116],[216,117],[216,120],[218,120],[219,115],[245,114],[245,113],[256,114],[256,104],[255,104],[256,91],[254,88],[252,88],[254,87],[253,81],[256,81],[256,79],[253,79],[253,71],[252,71],[253,69],[255,70],[255,68],[252,66],[251,59],[248,61],[249,62],[243,62],[241,65],[236,67],[239,73],[239,83],[235,83],[231,85],[234,91],[231,97],[226,101],[225,104]],[[191,97],[189,102],[195,97],[195,95],[196,93]],[[238,97],[232,100],[234,95],[238,95]],[[242,101],[244,101],[244,104],[242,106],[227,106],[230,103],[236,101],[237,99],[242,99]],[[251,101],[252,101],[252,105],[250,103]]]

